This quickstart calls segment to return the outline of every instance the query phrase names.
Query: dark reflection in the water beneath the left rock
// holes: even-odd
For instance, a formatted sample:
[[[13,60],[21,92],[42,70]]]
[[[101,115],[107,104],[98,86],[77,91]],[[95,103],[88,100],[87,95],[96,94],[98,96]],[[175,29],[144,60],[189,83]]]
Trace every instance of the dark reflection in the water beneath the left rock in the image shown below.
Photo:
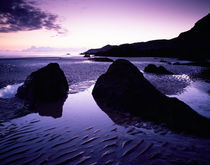
[[[40,116],[51,116],[53,118],[62,117],[63,105],[67,97],[64,97],[52,103],[39,103],[36,105],[35,111]]]

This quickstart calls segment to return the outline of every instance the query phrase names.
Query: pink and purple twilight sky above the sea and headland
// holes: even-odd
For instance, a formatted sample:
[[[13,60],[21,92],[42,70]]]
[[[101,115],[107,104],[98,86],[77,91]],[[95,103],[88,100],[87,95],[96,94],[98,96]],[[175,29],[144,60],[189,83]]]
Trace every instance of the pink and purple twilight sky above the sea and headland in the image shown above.
[[[170,39],[209,12],[210,0],[1,0],[0,55]]]

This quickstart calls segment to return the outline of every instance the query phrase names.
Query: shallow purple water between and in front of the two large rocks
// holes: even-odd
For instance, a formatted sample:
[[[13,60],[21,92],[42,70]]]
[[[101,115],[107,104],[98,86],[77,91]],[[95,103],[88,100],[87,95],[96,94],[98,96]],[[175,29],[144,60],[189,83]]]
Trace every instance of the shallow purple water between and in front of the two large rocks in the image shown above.
[[[1,164],[177,164],[192,158],[203,164],[210,161],[209,140],[176,135],[144,122],[141,126],[116,125],[97,106],[92,89],[93,85],[69,94],[60,118],[36,113],[3,123]]]

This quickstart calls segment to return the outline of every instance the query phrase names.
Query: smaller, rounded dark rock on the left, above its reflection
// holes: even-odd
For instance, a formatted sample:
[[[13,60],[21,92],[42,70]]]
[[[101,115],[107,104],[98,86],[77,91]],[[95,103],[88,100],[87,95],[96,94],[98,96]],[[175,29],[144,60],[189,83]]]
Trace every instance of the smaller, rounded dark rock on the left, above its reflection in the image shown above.
[[[68,82],[57,63],[32,72],[24,84],[18,88],[16,96],[30,105],[39,102],[53,102],[67,96]]]

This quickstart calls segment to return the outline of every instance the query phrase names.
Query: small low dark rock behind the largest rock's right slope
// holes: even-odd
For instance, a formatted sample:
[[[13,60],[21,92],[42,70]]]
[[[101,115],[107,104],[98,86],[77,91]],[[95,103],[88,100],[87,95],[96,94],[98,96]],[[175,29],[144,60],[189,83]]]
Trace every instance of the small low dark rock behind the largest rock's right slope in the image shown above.
[[[147,73],[155,73],[155,74],[173,74],[172,72],[168,71],[163,66],[157,67],[154,64],[149,64],[144,68],[144,72]]]

